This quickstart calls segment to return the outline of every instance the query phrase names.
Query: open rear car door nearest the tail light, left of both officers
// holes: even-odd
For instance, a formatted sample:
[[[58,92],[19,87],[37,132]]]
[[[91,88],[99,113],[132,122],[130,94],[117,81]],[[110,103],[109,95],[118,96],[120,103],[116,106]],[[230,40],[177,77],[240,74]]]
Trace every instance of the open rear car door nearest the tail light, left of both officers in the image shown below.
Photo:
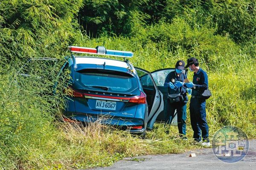
[[[158,90],[157,85],[154,82],[153,77],[150,72],[143,70],[142,68],[135,68],[138,76],[140,77],[140,82],[143,91],[147,95],[148,103],[148,115],[147,115],[147,128],[152,129],[154,127],[154,122],[157,119],[159,113],[163,111],[163,94]]]

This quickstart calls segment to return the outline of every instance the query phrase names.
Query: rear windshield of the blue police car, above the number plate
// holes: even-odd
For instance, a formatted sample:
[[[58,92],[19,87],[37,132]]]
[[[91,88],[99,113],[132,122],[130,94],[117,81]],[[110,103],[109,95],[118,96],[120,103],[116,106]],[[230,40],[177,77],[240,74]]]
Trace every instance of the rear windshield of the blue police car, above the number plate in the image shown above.
[[[76,82],[90,90],[128,93],[138,88],[131,74],[102,69],[84,69],[76,72]]]

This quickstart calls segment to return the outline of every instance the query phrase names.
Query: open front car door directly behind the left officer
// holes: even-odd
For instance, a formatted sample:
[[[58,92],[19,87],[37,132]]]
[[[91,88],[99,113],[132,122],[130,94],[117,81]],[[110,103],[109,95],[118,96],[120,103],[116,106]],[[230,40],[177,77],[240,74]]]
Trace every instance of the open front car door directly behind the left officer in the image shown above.
[[[151,76],[154,79],[155,84],[157,85],[157,88],[162,92],[163,94],[163,102],[164,102],[164,109],[163,111],[158,115],[157,121],[164,122],[165,116],[167,114],[166,111],[166,105],[168,105],[167,96],[168,96],[168,88],[164,87],[164,82],[167,77],[167,75],[175,71],[175,68],[163,68],[160,70],[152,71]],[[183,70],[184,74],[187,74],[187,70]],[[177,126],[177,112],[175,111],[171,125]]]

